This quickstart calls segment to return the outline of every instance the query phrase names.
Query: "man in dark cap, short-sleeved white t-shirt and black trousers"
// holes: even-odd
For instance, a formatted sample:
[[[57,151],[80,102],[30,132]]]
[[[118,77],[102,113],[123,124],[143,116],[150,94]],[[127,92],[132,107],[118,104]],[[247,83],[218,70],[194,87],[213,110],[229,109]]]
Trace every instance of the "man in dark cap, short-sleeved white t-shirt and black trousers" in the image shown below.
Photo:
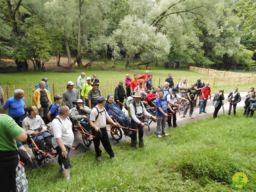
[[[96,152],[97,161],[101,161],[101,149],[100,142],[102,143],[104,149],[109,154],[110,159],[114,158],[114,152],[112,150],[109,138],[108,131],[106,129],[106,120],[115,126],[118,126],[118,123],[114,122],[112,118],[106,112],[104,108],[106,99],[103,96],[100,96],[98,99],[98,104],[92,109],[90,114],[90,125],[92,126],[92,135],[95,136],[93,138],[94,149]],[[102,135],[100,135],[101,132]]]

